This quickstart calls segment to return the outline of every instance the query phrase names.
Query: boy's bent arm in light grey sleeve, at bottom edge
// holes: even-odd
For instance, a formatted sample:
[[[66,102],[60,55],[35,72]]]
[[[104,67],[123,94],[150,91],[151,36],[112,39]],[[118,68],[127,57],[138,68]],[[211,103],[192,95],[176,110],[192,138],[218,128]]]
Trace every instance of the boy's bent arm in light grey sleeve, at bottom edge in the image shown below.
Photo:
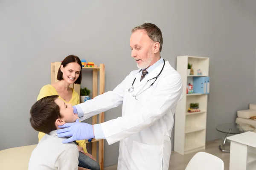
[[[58,170],[78,170],[78,157],[78,148],[76,146],[70,147],[61,153],[55,163],[55,166]]]

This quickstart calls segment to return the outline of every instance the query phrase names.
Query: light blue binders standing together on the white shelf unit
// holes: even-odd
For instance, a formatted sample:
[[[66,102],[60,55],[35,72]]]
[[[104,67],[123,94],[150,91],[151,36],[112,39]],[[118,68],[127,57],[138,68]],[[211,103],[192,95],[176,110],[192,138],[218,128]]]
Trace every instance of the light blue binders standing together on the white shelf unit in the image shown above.
[[[209,77],[194,77],[193,89],[194,93],[209,94],[210,78]]]

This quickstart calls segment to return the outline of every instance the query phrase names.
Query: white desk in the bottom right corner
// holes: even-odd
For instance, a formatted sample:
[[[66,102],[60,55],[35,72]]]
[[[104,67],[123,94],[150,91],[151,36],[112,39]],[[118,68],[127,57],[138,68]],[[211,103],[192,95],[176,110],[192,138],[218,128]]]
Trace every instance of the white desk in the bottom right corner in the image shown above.
[[[230,170],[256,170],[256,133],[227,137],[230,143]]]

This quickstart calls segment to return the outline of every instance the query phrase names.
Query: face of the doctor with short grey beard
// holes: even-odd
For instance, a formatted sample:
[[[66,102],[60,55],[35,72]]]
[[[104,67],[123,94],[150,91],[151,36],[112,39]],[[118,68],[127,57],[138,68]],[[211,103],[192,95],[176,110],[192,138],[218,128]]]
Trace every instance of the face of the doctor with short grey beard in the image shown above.
[[[153,41],[143,30],[134,31],[130,38],[131,57],[136,60],[137,67],[146,69],[152,65],[154,53],[152,51]]]

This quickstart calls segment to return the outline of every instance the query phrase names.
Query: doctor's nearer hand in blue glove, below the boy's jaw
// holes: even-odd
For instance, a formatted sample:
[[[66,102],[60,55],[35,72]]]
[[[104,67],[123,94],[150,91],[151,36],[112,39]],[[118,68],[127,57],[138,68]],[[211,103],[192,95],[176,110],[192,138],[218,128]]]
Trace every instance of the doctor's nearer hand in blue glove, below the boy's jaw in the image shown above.
[[[80,123],[79,119],[76,119],[74,123],[65,123],[58,126],[64,129],[57,130],[58,137],[70,137],[65,139],[62,143],[69,143],[76,140],[84,140],[94,138],[93,125],[87,123]]]

